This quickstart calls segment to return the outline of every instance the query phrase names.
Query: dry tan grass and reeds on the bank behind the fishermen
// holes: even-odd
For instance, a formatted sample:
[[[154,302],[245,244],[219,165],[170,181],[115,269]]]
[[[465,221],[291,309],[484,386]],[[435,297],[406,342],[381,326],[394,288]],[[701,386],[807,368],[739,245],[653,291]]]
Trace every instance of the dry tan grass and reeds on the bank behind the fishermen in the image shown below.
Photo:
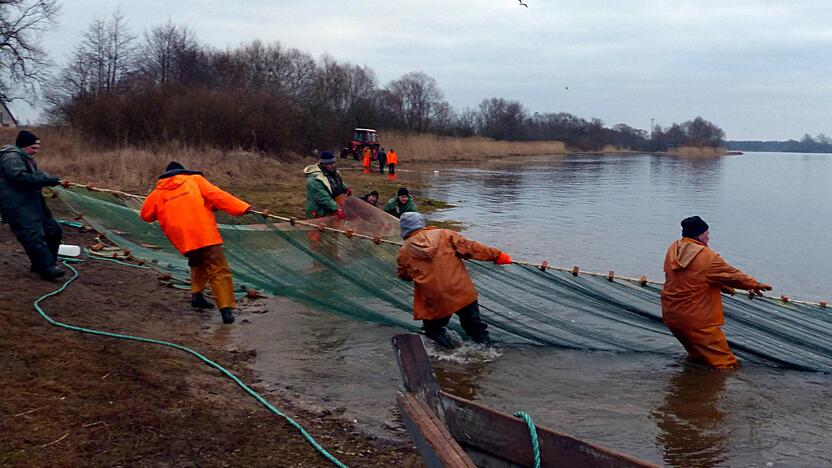
[[[153,148],[98,147],[66,129],[39,128],[34,131],[42,141],[37,156],[41,169],[73,182],[146,194],[168,162],[179,161],[189,169],[202,171],[211,181],[256,207],[298,217],[304,216],[306,200],[303,168],[316,162],[310,156],[275,157],[245,151],[182,147],[169,142]],[[0,129],[0,138],[13,142],[16,133],[17,129]],[[400,167],[405,168],[420,161],[424,165],[454,159],[547,154],[557,148],[557,145],[547,146],[542,142],[507,143],[483,138],[452,139],[430,135],[390,135],[385,138],[388,138],[385,142],[402,142],[402,145],[396,143],[396,146],[388,147],[397,149],[401,155]],[[394,179],[376,172],[365,174],[359,163],[349,158],[339,159],[338,167],[356,196],[377,190],[380,203],[384,203],[395,196],[400,187],[407,187],[423,212],[448,207],[439,200],[420,196],[424,184],[418,173],[400,171]]]

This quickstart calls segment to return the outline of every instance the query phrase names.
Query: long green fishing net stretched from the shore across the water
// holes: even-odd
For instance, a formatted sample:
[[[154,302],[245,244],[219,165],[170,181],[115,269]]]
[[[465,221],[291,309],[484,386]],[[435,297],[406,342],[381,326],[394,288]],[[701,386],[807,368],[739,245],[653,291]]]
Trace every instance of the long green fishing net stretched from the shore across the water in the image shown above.
[[[187,281],[189,270],[157,224],[138,216],[141,200],[83,189],[60,198],[99,232],[155,268]],[[260,215],[218,214],[235,285],[294,298],[325,311],[417,329],[413,287],[396,278],[398,220],[348,198],[347,220],[327,227],[376,237],[376,242],[314,227],[273,223]],[[659,287],[541,271],[524,265],[468,262],[491,336],[505,344],[550,345],[607,352],[680,354],[661,323]],[[832,314],[817,305],[725,297],[725,333],[749,361],[832,372]],[[459,330],[456,321],[451,327]]]

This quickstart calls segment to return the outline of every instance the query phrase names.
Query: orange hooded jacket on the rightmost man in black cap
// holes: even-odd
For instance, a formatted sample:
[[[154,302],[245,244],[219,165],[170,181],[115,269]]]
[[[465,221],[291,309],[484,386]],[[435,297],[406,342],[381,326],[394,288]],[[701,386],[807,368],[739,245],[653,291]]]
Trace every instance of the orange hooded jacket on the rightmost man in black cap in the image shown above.
[[[688,237],[670,244],[664,273],[662,319],[671,328],[721,326],[725,323],[722,288],[752,289],[759,284],[705,244]]]

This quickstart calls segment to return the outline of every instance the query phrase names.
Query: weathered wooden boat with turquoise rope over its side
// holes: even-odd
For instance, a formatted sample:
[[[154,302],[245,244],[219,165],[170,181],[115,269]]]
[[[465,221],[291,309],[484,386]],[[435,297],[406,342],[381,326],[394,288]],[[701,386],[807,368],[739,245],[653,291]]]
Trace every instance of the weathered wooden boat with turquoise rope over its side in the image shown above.
[[[531,436],[523,420],[442,391],[420,335],[396,335],[393,349],[404,381],[399,409],[426,466],[534,466]],[[657,466],[535,426],[543,467]]]

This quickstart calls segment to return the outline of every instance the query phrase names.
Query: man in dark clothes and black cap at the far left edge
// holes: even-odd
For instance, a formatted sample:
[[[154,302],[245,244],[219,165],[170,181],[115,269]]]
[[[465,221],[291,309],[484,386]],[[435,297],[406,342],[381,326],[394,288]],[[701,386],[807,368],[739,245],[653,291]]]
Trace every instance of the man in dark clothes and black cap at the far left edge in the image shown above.
[[[61,180],[38,170],[32,156],[39,150],[40,140],[26,130],[17,134],[14,145],[0,148],[0,216],[23,245],[31,270],[54,280],[64,275],[55,266],[62,232],[41,192]]]

